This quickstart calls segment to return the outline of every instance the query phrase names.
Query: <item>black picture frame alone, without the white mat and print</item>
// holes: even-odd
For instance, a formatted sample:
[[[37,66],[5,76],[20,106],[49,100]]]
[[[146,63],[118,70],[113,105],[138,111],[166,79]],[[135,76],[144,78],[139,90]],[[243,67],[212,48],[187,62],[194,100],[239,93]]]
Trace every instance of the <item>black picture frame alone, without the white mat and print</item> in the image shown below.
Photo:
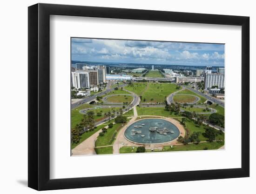
[[[50,175],[50,15],[242,26],[242,167],[232,169],[53,179]],[[36,4],[28,7],[28,187],[102,187],[249,176],[249,17],[108,7]]]

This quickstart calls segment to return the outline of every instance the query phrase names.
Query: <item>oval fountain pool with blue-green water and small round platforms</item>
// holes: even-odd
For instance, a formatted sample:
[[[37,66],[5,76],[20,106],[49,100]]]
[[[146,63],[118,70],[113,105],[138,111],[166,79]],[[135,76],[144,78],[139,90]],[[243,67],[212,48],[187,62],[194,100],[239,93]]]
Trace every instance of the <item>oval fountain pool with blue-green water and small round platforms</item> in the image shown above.
[[[135,143],[154,144],[175,140],[180,131],[173,123],[164,119],[142,119],[127,127],[124,135]]]

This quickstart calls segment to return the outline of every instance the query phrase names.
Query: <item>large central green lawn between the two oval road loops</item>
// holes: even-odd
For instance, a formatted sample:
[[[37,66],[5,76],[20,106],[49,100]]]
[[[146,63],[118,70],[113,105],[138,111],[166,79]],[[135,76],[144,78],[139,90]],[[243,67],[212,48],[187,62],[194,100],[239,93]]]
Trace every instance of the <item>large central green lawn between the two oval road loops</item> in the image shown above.
[[[165,102],[166,97],[179,89],[176,84],[172,83],[134,83],[125,88],[142,96],[141,103]]]

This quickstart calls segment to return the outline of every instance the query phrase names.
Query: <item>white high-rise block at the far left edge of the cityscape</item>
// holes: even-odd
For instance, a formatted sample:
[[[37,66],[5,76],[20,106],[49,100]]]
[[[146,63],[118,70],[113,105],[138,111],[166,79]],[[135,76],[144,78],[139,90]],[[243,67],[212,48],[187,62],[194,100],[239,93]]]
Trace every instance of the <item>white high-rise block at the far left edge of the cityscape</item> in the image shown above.
[[[72,74],[72,86],[80,89],[80,88],[89,88],[90,80],[89,80],[89,72],[71,72]]]

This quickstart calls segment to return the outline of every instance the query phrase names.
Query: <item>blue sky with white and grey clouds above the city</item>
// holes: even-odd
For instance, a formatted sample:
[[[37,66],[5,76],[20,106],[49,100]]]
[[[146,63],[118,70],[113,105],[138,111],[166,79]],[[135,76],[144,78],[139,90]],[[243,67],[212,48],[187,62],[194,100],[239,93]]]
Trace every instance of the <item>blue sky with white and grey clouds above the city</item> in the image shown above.
[[[72,38],[71,54],[81,61],[224,66],[223,44]]]

